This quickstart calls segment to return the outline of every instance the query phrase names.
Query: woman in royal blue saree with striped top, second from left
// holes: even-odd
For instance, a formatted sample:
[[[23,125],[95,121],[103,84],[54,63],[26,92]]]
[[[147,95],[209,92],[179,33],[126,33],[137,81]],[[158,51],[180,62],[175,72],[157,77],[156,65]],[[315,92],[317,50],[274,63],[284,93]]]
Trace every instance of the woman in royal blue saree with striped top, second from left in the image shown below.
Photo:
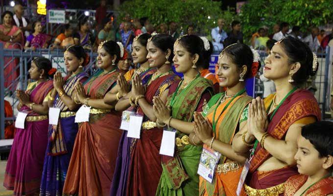
[[[88,74],[83,66],[89,63],[88,54],[81,46],[71,46],[65,53],[65,65],[69,73],[62,79],[61,73],[54,75],[54,89],[48,105],[60,108],[58,125],[48,127],[48,147],[45,154],[40,196],[61,196],[67,169],[70,164],[75,137],[78,131],[74,123],[79,104],[74,102],[74,86],[84,82]]]

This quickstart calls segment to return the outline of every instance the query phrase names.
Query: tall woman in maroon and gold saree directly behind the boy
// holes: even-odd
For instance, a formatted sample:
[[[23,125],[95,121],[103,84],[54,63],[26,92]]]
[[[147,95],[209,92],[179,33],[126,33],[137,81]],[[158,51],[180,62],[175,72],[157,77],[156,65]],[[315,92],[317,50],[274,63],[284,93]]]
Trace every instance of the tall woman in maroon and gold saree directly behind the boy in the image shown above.
[[[285,181],[298,173],[294,155],[301,127],[321,120],[317,100],[298,87],[316,73],[317,66],[316,56],[309,47],[291,37],[277,42],[266,58],[264,74],[274,81],[276,94],[252,100],[249,130],[239,133],[233,142],[234,150],[239,153],[248,152],[250,147],[246,144],[258,145],[244,185],[247,195],[282,196]]]

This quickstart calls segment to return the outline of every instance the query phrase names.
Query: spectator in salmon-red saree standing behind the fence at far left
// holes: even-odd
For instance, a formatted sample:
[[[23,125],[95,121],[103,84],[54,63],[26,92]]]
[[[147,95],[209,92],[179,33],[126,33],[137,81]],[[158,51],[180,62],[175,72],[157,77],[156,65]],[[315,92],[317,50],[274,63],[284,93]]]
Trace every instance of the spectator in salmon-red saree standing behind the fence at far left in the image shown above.
[[[2,25],[0,25],[0,43],[4,49],[22,49],[24,45],[23,33],[19,27],[13,25],[13,14],[9,11],[1,15]],[[4,87],[14,90],[16,88],[16,78],[19,75],[16,65],[18,58],[4,58]]]

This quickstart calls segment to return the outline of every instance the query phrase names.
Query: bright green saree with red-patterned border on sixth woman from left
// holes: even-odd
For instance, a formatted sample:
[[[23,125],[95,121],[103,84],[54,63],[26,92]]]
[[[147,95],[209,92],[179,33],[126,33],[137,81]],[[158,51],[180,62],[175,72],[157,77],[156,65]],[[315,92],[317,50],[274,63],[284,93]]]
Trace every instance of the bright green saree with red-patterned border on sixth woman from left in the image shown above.
[[[176,87],[178,84],[176,85]],[[197,77],[188,87],[175,92],[169,92],[167,103],[176,93],[174,103],[171,104],[172,117],[181,121],[191,122],[194,111],[202,111],[200,102],[206,92],[207,100],[213,95],[212,82]],[[177,131],[177,138],[186,138],[188,135]],[[199,193],[199,175],[197,174],[202,146],[194,146],[189,143],[177,145],[174,157],[163,156],[163,172],[157,188],[156,196],[197,196]]]

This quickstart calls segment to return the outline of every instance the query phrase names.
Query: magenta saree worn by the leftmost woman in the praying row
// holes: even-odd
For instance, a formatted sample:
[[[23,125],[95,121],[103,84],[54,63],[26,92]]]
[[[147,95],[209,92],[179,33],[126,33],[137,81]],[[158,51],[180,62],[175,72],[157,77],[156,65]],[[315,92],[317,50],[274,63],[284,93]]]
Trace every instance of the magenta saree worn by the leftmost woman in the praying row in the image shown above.
[[[31,101],[42,104],[52,85],[52,81],[43,82],[27,89],[26,92]],[[41,117],[27,106],[23,106],[20,111],[27,112],[27,118]],[[14,190],[16,196],[29,196],[39,192],[44,155],[48,144],[47,116],[40,121],[28,121],[27,118],[24,129],[16,128],[3,180],[3,186],[8,190]]]

